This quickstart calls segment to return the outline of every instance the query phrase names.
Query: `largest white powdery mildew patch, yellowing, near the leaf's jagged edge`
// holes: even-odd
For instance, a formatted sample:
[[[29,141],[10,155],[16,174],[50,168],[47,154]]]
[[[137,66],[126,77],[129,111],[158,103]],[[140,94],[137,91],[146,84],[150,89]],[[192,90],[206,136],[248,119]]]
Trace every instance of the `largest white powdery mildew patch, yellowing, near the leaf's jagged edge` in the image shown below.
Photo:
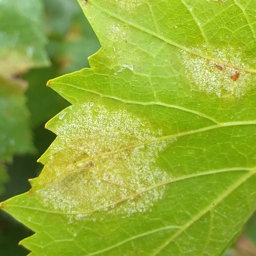
[[[66,112],[57,131],[61,143],[51,146],[47,164],[59,182],[36,192],[44,207],[70,215],[71,221],[94,218],[94,212],[101,216],[145,212],[165,190],[152,186],[171,179],[156,160],[175,139],[154,141],[162,131],[148,121],[126,110],[95,105],[86,103]]]

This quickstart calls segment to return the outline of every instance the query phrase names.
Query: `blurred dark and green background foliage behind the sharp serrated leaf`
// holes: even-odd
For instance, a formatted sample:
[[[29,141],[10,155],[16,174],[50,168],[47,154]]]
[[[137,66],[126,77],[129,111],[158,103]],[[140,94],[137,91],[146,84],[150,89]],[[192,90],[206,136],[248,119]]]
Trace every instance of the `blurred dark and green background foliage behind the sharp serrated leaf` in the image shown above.
[[[49,79],[88,67],[100,48],[76,0],[0,1],[0,202],[30,189],[55,138],[45,123],[69,103]],[[0,211],[0,256],[24,256],[32,235]],[[225,256],[256,256],[256,214]]]

